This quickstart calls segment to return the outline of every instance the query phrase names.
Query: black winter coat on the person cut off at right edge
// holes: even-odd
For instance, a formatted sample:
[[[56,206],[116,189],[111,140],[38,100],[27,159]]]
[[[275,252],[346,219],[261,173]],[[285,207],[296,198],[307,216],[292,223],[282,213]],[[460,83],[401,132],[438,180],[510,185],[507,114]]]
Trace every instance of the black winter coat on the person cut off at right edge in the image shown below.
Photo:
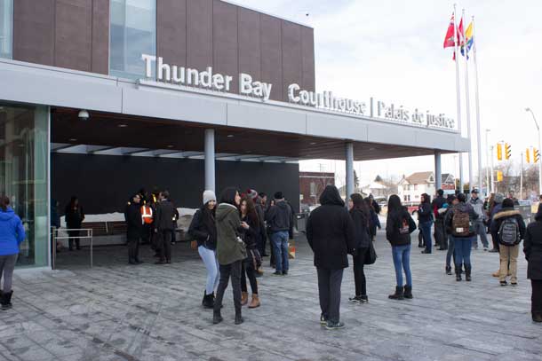
[[[542,208],[538,208],[536,222],[529,224],[523,241],[527,260],[527,278],[542,280]]]

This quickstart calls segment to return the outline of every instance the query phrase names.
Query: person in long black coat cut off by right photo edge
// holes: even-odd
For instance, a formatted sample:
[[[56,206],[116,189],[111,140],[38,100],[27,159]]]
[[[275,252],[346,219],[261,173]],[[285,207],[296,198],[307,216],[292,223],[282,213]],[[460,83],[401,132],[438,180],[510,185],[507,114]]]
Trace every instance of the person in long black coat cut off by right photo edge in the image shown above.
[[[538,206],[535,221],[527,227],[523,241],[523,253],[527,260],[527,278],[532,294],[530,312],[534,322],[542,322],[542,207]]]

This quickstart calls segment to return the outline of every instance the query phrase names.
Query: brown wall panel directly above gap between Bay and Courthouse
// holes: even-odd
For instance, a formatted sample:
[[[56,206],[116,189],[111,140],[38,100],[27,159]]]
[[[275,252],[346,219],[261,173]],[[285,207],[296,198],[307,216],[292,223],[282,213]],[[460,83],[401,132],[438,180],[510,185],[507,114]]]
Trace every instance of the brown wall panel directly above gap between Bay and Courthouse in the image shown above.
[[[271,82],[271,99],[284,100],[281,20],[260,14],[261,81]]]

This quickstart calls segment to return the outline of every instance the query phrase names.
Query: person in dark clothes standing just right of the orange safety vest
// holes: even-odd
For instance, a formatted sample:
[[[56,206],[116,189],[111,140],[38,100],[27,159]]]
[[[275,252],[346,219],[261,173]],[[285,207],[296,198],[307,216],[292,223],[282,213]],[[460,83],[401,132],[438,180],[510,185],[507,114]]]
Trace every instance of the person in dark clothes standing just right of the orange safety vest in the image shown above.
[[[156,204],[155,234],[158,236],[157,251],[160,260],[155,264],[171,263],[171,231],[174,230],[175,208],[169,198],[170,192],[161,192],[160,201]]]

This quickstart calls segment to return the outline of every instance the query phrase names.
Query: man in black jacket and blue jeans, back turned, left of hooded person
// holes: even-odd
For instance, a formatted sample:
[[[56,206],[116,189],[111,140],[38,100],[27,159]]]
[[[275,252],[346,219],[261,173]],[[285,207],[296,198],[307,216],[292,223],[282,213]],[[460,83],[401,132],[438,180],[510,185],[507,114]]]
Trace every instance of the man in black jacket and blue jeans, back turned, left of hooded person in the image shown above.
[[[275,251],[275,276],[287,275],[288,239],[293,238],[293,212],[284,200],[283,192],[275,192],[275,206],[267,211],[266,221],[271,228],[271,242]]]

